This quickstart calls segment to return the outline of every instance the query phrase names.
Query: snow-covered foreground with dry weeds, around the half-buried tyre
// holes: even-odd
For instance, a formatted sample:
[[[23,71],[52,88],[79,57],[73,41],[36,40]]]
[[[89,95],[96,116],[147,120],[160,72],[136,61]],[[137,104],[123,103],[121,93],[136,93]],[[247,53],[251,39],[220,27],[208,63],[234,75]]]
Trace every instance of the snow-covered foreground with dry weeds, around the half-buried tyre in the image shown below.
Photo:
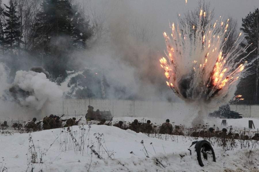
[[[200,167],[187,150],[192,137],[158,139],[105,125],[70,129],[1,134],[0,171],[259,171],[257,141],[249,142],[250,149],[237,145],[226,152],[215,144],[216,163]]]

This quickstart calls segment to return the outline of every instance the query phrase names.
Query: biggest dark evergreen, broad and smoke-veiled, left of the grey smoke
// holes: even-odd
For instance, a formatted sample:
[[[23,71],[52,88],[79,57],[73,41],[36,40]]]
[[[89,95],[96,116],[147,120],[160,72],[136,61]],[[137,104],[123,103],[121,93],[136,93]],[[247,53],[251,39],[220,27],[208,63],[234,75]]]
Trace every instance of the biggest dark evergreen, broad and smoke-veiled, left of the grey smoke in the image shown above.
[[[92,34],[89,21],[69,0],[43,0],[35,28],[34,50],[41,52],[45,68],[55,78],[66,77],[66,70],[73,70],[70,54],[84,48]]]

